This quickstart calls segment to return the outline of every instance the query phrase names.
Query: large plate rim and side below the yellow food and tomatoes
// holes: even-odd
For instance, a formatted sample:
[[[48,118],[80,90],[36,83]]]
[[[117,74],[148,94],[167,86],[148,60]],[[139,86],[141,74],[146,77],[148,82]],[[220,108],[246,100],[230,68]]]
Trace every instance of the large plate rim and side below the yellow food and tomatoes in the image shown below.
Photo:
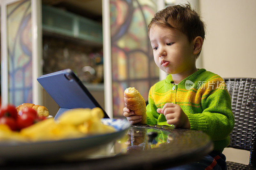
[[[41,142],[2,142],[0,143],[0,159],[2,160],[28,160],[38,158],[51,158],[65,156],[75,152],[86,151],[92,147],[103,144],[122,137],[130,126],[127,120],[122,119],[102,119],[104,124],[113,126],[117,131],[114,133],[87,136],[81,138],[62,139],[56,141]]]

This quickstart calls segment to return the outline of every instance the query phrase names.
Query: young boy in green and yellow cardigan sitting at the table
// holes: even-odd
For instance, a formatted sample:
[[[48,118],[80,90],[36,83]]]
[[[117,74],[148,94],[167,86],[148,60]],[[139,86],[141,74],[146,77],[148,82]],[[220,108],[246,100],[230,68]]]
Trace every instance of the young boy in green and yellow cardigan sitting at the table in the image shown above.
[[[204,131],[211,137],[214,151],[201,163],[191,163],[185,169],[206,168],[215,161],[213,157],[217,161],[215,168],[227,168],[221,152],[229,144],[234,116],[224,80],[196,68],[204,41],[204,23],[189,4],[168,6],[152,18],[148,34],[156,65],[169,75],[149,90],[147,124]],[[141,121],[126,107],[124,116],[132,124]]]

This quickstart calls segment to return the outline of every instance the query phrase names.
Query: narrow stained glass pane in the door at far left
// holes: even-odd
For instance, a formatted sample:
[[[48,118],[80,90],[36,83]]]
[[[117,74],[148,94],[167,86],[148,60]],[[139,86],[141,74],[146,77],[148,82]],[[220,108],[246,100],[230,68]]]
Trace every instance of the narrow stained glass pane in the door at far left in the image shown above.
[[[9,103],[32,103],[31,2],[7,5]]]

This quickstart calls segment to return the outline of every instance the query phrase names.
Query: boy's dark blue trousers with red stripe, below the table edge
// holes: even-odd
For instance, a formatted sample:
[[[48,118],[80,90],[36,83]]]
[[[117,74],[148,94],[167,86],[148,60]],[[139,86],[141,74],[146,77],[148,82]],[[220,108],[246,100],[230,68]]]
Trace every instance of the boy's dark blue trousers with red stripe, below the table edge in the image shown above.
[[[198,162],[191,162],[185,165],[180,165],[166,170],[227,170],[226,157],[224,154],[212,151],[209,155],[204,156]]]

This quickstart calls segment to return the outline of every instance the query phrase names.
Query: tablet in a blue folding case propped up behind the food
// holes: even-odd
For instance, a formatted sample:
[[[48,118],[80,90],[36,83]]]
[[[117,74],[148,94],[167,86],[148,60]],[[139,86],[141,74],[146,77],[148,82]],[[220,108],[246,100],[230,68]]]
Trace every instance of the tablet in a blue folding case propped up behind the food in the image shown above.
[[[74,108],[102,107],[83,85],[76,74],[70,70],[61,70],[37,78],[45,91],[59,105],[55,119],[64,111]],[[104,109],[104,118],[109,118]]]

